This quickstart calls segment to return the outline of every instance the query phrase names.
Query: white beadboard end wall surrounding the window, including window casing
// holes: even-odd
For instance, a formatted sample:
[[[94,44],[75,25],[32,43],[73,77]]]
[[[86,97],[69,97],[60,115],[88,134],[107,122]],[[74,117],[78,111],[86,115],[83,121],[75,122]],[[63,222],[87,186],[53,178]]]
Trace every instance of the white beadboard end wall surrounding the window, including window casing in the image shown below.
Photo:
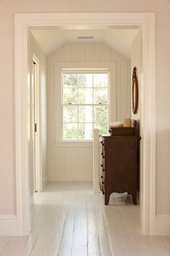
[[[91,181],[92,142],[61,141],[61,78],[58,70],[62,67],[112,69],[109,121],[122,121],[131,113],[130,60],[102,43],[71,43],[50,54],[47,67],[48,179]]]

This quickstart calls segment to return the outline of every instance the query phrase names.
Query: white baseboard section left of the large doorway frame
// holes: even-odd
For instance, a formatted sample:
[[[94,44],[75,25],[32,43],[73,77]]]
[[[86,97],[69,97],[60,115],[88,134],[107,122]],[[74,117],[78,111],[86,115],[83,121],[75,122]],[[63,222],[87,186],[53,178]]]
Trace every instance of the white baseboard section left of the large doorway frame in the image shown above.
[[[0,236],[17,236],[17,216],[0,215]]]

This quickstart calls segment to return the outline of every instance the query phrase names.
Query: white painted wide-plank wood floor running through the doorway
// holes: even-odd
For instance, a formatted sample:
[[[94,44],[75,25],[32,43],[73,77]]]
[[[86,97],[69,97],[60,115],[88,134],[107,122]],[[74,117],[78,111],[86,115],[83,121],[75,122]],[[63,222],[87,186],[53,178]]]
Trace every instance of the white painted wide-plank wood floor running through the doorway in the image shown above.
[[[32,209],[30,236],[0,237],[1,256],[166,256],[170,236],[143,236],[127,195],[104,206],[88,182],[50,182]]]

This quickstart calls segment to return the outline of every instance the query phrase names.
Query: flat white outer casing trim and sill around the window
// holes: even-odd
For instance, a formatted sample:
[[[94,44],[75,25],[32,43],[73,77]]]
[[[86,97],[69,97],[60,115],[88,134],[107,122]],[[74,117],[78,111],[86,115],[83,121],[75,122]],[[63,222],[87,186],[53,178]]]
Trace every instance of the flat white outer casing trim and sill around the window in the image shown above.
[[[117,120],[117,86],[116,86],[116,63],[115,61],[103,62],[56,62],[55,63],[55,143],[60,142],[93,142],[93,140],[63,140],[63,106],[62,106],[62,70],[109,70],[109,88],[108,88],[108,121]],[[112,106],[110,106],[112,102]]]

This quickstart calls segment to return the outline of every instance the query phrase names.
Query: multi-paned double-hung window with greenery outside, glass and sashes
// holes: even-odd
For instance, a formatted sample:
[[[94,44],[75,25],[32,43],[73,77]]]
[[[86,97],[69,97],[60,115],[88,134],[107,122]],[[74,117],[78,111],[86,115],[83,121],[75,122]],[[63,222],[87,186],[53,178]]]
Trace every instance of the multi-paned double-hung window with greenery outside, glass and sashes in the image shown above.
[[[107,134],[108,70],[63,70],[63,140],[91,140]]]

